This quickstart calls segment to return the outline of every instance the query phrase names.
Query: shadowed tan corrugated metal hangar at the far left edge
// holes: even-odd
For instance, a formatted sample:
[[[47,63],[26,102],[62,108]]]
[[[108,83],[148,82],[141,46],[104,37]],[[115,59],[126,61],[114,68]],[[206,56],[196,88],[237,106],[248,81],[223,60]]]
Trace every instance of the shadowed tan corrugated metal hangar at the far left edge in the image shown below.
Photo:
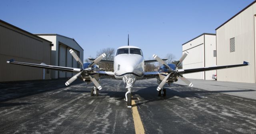
[[[50,79],[50,70],[7,64],[15,61],[50,65],[52,42],[0,20],[0,82]]]

